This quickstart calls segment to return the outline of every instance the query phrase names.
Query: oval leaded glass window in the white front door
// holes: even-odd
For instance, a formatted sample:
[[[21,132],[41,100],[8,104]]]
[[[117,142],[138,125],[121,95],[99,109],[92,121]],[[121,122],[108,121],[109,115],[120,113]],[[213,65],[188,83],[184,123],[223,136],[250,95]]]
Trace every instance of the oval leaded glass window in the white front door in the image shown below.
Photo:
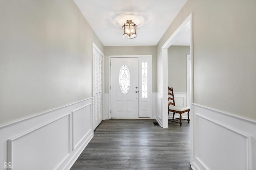
[[[122,65],[119,72],[119,85],[122,93],[126,94],[130,87],[130,72],[125,64]]]

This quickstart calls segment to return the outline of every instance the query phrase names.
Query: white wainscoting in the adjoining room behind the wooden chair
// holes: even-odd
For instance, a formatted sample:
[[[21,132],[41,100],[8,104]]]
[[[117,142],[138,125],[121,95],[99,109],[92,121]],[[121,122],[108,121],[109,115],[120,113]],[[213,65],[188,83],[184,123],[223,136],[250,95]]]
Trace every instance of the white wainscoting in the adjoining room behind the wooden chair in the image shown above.
[[[174,93],[175,105],[187,107],[187,93]],[[173,112],[169,113],[168,119],[172,119]],[[180,114],[176,113],[174,115],[176,118],[180,118]],[[188,114],[183,113],[182,119],[188,119]]]

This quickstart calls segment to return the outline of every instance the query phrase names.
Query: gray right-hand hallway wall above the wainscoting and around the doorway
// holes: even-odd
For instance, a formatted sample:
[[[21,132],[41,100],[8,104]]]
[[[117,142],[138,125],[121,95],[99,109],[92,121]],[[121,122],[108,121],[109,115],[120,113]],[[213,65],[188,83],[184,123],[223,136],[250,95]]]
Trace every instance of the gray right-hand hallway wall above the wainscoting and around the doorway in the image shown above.
[[[194,103],[256,120],[255,6],[255,0],[188,0],[158,42],[161,61],[162,45],[193,13]]]

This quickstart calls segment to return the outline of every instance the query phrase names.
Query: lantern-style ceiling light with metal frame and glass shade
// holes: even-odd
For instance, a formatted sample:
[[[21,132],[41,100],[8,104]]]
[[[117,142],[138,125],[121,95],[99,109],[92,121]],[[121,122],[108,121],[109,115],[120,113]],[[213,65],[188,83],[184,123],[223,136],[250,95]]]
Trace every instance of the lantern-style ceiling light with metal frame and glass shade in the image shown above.
[[[123,37],[125,39],[136,38],[137,37],[136,28],[137,28],[137,25],[134,22],[132,22],[132,20],[127,20],[126,23],[124,23],[123,25],[123,29],[124,29]]]

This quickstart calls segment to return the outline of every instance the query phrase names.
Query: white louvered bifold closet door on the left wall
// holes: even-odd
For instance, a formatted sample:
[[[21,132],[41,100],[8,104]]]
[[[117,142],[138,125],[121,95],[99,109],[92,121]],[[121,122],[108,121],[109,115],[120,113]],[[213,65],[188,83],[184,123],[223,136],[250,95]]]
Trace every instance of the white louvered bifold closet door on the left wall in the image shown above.
[[[102,121],[102,55],[95,48],[93,48],[92,69],[92,126],[94,130]]]

